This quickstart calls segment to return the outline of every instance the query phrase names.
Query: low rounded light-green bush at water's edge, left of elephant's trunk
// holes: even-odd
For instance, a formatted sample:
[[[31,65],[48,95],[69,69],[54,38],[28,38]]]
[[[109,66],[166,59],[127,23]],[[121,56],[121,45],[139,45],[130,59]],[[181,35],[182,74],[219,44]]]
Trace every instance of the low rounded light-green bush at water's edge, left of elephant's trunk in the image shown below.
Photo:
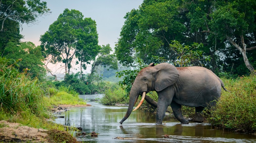
[[[120,88],[110,88],[104,92],[104,96],[100,99],[100,103],[104,105],[115,105],[117,103],[120,104],[128,104],[129,98],[124,98],[125,91]]]

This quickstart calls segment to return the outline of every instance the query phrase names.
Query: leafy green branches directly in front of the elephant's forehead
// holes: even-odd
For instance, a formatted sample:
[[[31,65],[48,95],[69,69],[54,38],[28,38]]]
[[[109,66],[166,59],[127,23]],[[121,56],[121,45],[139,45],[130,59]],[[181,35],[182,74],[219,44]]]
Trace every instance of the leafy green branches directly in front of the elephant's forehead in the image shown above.
[[[135,63],[137,67],[136,70],[124,70],[116,73],[116,76],[119,78],[124,76],[123,80],[119,82],[119,86],[121,86],[125,90],[126,92],[125,97],[129,96],[129,93],[132,88],[132,84],[136,76],[138,75],[139,71],[147,67],[147,65],[145,65],[145,63],[140,58],[137,58]]]

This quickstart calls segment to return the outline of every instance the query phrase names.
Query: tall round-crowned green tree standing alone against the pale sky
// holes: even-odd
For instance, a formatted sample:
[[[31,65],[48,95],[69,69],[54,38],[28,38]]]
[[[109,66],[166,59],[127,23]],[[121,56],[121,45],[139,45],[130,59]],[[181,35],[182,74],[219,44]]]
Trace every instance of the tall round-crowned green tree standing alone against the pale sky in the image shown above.
[[[64,63],[65,73],[70,74],[75,56],[83,68],[84,62],[95,58],[99,50],[97,39],[95,21],[90,18],[83,19],[78,10],[66,8],[41,36],[40,41],[45,56],[52,56],[50,62]]]

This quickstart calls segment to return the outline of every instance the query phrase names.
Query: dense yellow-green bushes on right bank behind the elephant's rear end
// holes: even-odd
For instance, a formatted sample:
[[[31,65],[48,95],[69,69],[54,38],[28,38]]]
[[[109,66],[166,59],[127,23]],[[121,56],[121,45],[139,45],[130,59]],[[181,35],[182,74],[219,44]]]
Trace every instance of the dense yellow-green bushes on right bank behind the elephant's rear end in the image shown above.
[[[229,92],[222,92],[208,116],[212,126],[240,133],[256,132],[256,76],[222,79]]]

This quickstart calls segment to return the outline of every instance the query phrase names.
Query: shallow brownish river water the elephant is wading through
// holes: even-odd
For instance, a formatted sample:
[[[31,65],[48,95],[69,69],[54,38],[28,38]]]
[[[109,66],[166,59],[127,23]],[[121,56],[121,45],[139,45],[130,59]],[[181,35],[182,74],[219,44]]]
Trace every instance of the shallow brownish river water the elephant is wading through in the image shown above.
[[[102,95],[80,95],[85,100],[98,99]],[[155,125],[156,115],[138,109],[133,111],[121,125],[127,106],[105,106],[95,101],[88,101],[91,107],[73,107],[62,112],[56,123],[67,126],[81,127],[87,134],[95,131],[98,137],[90,135],[76,136],[85,142],[256,142],[255,135],[237,134],[212,129],[207,123],[190,122],[180,124],[178,120],[164,119],[163,125]],[[169,138],[163,138],[164,135]],[[75,135],[75,133],[74,133]],[[127,139],[114,139],[123,137]]]

